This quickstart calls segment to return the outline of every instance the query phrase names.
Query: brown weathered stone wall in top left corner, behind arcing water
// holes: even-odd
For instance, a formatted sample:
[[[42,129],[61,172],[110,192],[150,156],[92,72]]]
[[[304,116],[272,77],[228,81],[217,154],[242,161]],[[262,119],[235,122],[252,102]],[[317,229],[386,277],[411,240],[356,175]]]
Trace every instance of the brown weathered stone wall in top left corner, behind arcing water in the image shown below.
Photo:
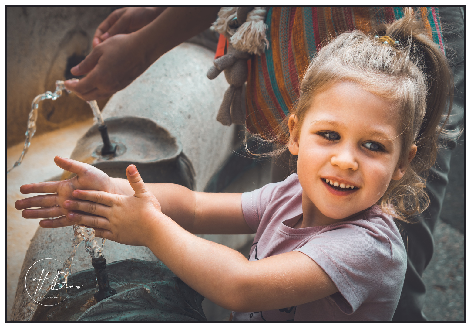
[[[112,7],[8,7],[7,18],[7,146],[24,141],[31,102],[54,91],[65,79],[67,59],[86,56],[97,26]],[[70,69],[70,68],[69,68]],[[100,101],[100,108],[106,103]],[[92,116],[76,95],[40,103],[36,134]]]

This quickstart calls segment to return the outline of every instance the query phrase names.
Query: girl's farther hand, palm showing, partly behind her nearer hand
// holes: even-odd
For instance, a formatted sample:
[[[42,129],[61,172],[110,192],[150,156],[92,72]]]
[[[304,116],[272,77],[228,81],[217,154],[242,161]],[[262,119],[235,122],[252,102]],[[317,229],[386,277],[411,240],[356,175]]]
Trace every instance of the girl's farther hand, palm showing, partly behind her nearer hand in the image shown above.
[[[54,158],[57,166],[66,171],[75,173],[76,176],[63,181],[47,181],[20,187],[21,193],[49,193],[47,195],[37,195],[15,202],[17,210],[23,210],[21,215],[26,219],[41,219],[39,225],[43,228],[55,228],[71,226],[73,222],[65,219],[65,210],[62,206],[67,199],[73,199],[72,192],[75,189],[103,190],[110,193],[123,193],[118,181],[110,178],[103,171],[89,164],[81,163],[56,156]],[[125,180],[122,180],[125,181]],[[40,209],[30,209],[41,206]]]

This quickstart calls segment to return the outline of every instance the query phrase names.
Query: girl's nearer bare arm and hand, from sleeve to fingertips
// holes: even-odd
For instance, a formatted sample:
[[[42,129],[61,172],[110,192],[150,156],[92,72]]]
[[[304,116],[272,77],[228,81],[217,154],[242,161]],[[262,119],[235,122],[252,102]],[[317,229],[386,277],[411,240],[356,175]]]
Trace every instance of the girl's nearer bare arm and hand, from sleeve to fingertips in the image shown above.
[[[325,271],[303,253],[248,261],[237,251],[191,234],[162,213],[159,202],[133,171],[132,166],[128,167],[133,196],[75,190],[73,196],[80,200],[64,202],[69,210],[67,219],[95,227],[98,237],[147,246],[185,283],[230,310],[279,309],[338,291]],[[235,208],[227,207],[234,210],[237,222]],[[211,206],[203,212],[211,213]],[[222,213],[215,210],[213,214],[211,220],[215,221]],[[240,228],[237,224],[235,227]]]

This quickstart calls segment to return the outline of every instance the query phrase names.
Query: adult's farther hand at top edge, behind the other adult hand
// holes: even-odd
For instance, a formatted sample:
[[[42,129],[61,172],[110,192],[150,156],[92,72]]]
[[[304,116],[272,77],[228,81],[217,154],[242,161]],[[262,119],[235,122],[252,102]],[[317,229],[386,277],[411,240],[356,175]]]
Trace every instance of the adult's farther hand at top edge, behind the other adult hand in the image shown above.
[[[114,10],[98,26],[93,36],[92,47],[115,34],[128,34],[146,26],[167,7],[124,7]]]

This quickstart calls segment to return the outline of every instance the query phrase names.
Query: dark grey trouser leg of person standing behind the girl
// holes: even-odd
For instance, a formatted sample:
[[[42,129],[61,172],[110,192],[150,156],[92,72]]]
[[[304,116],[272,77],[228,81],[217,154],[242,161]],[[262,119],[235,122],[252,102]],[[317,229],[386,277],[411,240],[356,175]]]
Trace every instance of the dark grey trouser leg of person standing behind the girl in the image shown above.
[[[458,131],[464,114],[464,11],[459,7],[442,7],[439,10],[447,57],[455,76],[454,106],[446,128]],[[407,271],[393,321],[427,320],[422,313],[425,300],[422,273],[433,254],[432,232],[440,215],[448,183],[451,150],[455,144],[455,141],[447,140],[447,148],[439,152],[434,167],[429,171],[427,193],[430,207],[417,217],[418,223],[401,223],[407,248]]]

